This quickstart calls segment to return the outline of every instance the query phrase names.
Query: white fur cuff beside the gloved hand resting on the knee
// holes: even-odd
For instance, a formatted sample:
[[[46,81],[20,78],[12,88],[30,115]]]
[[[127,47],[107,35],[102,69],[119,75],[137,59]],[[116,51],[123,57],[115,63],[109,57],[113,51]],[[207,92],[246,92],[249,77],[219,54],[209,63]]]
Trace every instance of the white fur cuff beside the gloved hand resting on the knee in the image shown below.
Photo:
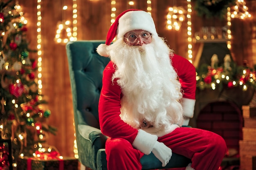
[[[135,140],[132,143],[136,149],[140,150],[146,155],[151,153],[155,142],[157,141],[157,135],[151,135],[144,130],[139,129]]]

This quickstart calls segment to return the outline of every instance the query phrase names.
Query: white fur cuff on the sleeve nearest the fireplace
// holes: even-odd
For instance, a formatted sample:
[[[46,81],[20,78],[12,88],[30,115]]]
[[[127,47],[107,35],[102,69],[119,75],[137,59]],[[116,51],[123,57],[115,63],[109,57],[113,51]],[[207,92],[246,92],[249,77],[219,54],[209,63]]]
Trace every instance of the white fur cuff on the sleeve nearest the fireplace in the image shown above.
[[[195,99],[182,98],[183,115],[192,118],[194,115]]]

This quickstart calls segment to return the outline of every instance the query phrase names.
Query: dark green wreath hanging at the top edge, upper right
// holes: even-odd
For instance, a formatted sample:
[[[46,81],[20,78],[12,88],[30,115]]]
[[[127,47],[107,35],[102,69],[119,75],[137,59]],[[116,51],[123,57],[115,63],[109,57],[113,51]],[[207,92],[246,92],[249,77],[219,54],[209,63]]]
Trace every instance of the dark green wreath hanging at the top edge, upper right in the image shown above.
[[[236,0],[195,0],[195,11],[207,18],[225,18],[227,7],[236,4]]]

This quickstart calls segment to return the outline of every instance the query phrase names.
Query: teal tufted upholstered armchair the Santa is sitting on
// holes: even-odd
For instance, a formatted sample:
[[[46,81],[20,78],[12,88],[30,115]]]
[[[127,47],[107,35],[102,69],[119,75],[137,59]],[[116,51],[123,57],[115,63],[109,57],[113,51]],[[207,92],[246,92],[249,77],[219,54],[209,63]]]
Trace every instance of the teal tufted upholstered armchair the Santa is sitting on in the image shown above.
[[[105,141],[99,127],[98,102],[102,72],[109,58],[101,57],[96,47],[103,41],[76,41],[66,45],[72,88],[74,124],[79,161],[93,170],[107,170]],[[173,153],[165,168],[185,167],[190,159]],[[151,153],[141,158],[146,169],[161,169],[162,163]]]

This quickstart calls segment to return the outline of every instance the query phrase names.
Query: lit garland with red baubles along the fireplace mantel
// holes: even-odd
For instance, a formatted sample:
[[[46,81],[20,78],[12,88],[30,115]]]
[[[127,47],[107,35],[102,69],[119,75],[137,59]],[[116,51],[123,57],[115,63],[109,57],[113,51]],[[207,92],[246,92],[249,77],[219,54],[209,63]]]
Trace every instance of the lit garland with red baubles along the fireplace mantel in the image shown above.
[[[247,91],[250,86],[256,89],[256,65],[249,68],[247,65],[237,66],[234,62],[230,63],[229,68],[220,66],[214,68],[202,64],[197,72],[197,88],[203,90],[205,88],[216,89],[216,86],[233,88],[241,86],[243,91]]]

